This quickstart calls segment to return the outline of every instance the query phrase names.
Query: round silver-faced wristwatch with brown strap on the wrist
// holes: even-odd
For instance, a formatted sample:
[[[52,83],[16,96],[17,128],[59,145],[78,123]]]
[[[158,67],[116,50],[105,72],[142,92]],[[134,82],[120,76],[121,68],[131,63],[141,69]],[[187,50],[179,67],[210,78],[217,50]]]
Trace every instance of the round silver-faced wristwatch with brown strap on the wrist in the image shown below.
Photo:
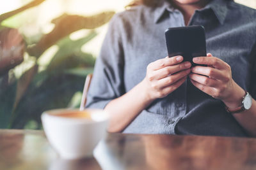
[[[228,108],[225,106],[228,113],[241,113],[244,110],[249,110],[252,107],[252,96],[248,92],[246,92],[243,97],[242,105],[238,108]]]

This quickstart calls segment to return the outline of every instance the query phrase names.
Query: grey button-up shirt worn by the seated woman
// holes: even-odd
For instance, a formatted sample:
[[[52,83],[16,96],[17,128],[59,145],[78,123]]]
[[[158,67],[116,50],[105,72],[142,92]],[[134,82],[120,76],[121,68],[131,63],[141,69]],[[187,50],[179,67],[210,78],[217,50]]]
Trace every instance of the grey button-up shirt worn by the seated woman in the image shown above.
[[[234,1],[212,0],[195,11],[189,25],[205,27],[207,52],[227,62],[234,81],[255,98],[256,10]],[[95,64],[86,106],[104,108],[140,83],[148,64],[167,55],[164,31],[180,26],[185,26],[182,13],[167,2],[116,14]],[[141,111],[124,132],[246,136],[219,99],[189,80]]]

